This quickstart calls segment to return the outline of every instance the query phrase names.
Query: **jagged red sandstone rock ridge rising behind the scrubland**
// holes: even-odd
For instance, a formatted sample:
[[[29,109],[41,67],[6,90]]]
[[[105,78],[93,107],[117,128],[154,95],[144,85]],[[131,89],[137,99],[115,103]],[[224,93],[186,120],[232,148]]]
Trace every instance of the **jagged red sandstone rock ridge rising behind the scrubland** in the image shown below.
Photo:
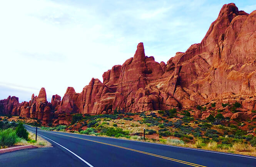
[[[158,63],[139,43],[134,57],[102,77],[103,83],[92,78],[81,93],[68,87],[62,99],[56,94],[51,103],[44,88],[21,104],[9,96],[0,101],[0,113],[36,117],[47,124],[63,120],[63,114],[182,109],[214,101],[236,100],[244,109],[256,109],[256,10],[248,14],[234,3],[225,4],[201,43],[185,53]],[[247,115],[233,117],[239,116]]]

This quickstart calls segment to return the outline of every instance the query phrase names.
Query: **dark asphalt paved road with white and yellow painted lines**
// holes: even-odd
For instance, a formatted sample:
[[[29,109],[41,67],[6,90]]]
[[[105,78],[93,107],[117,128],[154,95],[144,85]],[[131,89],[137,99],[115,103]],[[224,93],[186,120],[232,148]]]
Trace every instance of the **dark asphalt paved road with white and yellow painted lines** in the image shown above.
[[[25,127],[35,132],[35,128],[27,125]],[[53,147],[1,154],[0,166],[256,166],[256,157],[244,155],[220,154],[205,150],[41,129],[38,129],[38,134],[51,142]]]

